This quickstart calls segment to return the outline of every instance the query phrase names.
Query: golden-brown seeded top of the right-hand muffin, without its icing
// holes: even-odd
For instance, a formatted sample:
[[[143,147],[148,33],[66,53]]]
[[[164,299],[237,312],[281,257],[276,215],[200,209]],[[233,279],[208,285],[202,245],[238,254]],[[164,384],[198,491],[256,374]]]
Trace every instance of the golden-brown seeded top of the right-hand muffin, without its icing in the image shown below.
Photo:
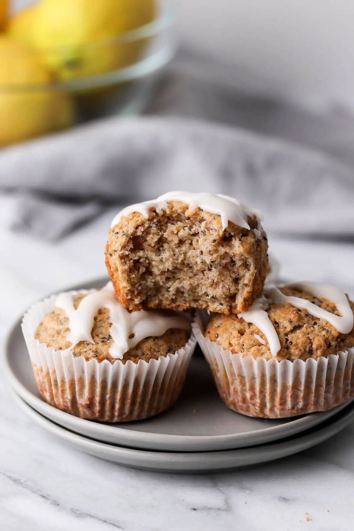
[[[333,302],[314,296],[305,289],[290,285],[279,290],[285,296],[305,299],[332,315],[341,315]],[[347,300],[351,312],[354,312],[354,303],[349,301],[348,297]],[[317,359],[354,346],[354,327],[349,333],[341,333],[326,319],[311,315],[308,309],[301,309],[289,302],[270,302],[265,312],[280,342],[280,349],[275,356],[271,352],[265,333],[256,324],[246,322],[240,314],[239,316],[214,314],[206,328],[205,337],[209,337],[223,349],[231,350],[232,353],[251,355],[254,358],[274,357],[278,361]],[[246,313],[244,315],[246,318]]]

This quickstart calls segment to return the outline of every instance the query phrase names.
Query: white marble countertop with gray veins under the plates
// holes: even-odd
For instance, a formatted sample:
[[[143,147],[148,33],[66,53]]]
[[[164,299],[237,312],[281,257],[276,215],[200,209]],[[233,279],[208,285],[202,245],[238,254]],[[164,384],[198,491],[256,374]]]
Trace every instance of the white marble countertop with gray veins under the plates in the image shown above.
[[[53,245],[0,230],[2,339],[35,299],[105,275],[111,217],[107,212]],[[269,240],[284,278],[329,280],[354,295],[354,244],[272,235]],[[353,528],[354,424],[313,449],[267,465],[174,475],[124,468],[66,447],[25,416],[1,372],[0,399],[2,531]]]

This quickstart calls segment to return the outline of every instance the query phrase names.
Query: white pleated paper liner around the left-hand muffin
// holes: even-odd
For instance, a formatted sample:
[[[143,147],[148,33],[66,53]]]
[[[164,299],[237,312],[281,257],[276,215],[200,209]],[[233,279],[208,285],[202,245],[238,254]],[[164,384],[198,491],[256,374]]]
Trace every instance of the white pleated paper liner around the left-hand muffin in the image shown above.
[[[56,298],[53,295],[33,304],[22,321],[34,379],[49,404],[82,418],[106,422],[140,420],[174,404],[196,346],[193,331],[185,347],[149,362],[86,361],[83,356],[74,358],[71,350],[55,351],[33,338],[40,321],[54,309]]]

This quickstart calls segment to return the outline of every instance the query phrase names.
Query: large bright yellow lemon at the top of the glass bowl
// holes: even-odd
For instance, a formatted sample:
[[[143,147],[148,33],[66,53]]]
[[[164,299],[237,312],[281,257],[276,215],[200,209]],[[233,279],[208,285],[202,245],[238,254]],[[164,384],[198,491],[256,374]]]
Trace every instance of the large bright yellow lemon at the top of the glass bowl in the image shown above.
[[[156,0],[41,0],[33,42],[59,79],[89,76],[131,64],[142,45],[119,35],[155,16]]]

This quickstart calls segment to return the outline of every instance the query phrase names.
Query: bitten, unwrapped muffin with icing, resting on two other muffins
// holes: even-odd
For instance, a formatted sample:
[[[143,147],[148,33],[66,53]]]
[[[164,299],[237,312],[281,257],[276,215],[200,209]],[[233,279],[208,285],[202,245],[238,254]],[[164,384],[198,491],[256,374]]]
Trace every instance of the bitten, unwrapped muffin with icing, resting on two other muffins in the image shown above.
[[[129,310],[247,310],[268,267],[260,213],[226,196],[171,192],[113,221],[106,265]]]

